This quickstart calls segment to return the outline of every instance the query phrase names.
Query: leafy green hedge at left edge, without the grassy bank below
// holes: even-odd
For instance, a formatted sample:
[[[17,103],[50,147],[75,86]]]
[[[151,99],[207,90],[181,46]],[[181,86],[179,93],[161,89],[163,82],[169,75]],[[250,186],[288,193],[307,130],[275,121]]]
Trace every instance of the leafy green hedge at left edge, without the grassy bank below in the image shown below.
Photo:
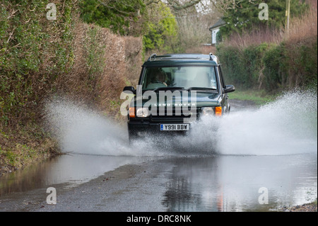
[[[73,2],[57,2],[57,20],[46,18],[49,1],[2,1],[0,13],[0,123],[23,125],[39,117],[40,100],[56,89],[73,62]],[[31,10],[32,9],[32,10]]]

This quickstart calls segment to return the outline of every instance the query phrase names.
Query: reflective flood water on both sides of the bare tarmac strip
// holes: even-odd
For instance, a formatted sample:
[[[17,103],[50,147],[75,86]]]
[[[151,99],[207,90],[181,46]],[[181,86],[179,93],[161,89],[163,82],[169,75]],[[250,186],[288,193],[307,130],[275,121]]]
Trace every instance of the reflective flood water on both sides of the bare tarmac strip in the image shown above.
[[[71,189],[124,164],[147,161],[165,164],[163,171],[167,176],[161,208],[166,211],[275,211],[317,198],[317,154],[152,157],[151,160],[71,154],[1,177],[0,210],[6,200],[16,195],[58,184]],[[146,186],[147,181],[144,183]],[[136,192],[134,189],[131,188],[131,193]],[[151,211],[153,207],[147,205]]]

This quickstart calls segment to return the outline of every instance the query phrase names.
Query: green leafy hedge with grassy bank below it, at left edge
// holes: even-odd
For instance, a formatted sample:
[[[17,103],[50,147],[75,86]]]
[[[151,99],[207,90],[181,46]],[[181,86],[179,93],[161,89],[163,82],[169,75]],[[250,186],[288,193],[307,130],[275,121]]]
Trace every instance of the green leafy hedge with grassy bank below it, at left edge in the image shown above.
[[[57,152],[40,127],[40,101],[72,64],[71,4],[47,23],[48,3],[0,1],[0,172]]]

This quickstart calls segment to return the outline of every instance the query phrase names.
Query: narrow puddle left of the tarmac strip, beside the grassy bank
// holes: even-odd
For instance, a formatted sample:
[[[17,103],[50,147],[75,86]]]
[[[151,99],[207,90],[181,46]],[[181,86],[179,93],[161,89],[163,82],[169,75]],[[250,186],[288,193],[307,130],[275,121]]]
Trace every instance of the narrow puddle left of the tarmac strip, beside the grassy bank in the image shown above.
[[[58,183],[69,183],[69,186],[73,186],[97,178],[106,171],[124,164],[136,164],[141,161],[141,157],[64,154],[1,176],[0,196]]]

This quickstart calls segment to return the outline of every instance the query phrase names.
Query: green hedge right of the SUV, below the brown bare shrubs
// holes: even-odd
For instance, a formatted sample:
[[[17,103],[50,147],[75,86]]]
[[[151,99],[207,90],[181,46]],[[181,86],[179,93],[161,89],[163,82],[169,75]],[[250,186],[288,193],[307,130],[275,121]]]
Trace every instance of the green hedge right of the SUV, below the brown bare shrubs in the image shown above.
[[[217,49],[227,81],[242,88],[277,91],[317,84],[317,38]]]

